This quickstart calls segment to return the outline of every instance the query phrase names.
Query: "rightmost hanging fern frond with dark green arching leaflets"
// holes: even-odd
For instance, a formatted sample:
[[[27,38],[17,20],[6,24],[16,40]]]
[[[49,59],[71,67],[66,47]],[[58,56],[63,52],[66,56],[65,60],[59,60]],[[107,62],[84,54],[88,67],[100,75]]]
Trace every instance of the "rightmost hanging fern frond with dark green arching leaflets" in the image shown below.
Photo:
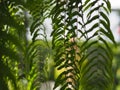
[[[91,3],[93,2],[91,1]],[[86,31],[87,33],[90,33],[92,30],[94,32],[93,35],[95,35],[97,38],[97,42],[91,45],[88,44],[88,46],[82,50],[82,52],[84,52],[84,50],[88,50],[88,54],[87,58],[82,60],[83,64],[85,63],[85,66],[81,66],[82,72],[80,82],[82,85],[80,90],[112,90],[112,71],[110,69],[112,63],[112,54],[111,51],[109,51],[111,50],[109,47],[110,42],[108,42],[105,38],[111,40],[113,43],[115,43],[115,41],[110,30],[108,16],[106,15],[108,12],[103,11],[103,8],[107,8],[109,10],[110,5],[108,5],[108,3],[106,3],[107,5],[104,5],[104,3],[106,3],[106,1],[97,2],[97,0],[95,0],[94,6],[91,5],[89,7],[90,12],[87,11],[88,9],[84,9],[84,12],[88,13],[86,17],[86,25],[87,23],[88,25],[91,24],[94,20],[97,20],[98,22],[96,22],[98,24],[95,29],[92,28],[88,29],[88,32]],[[95,4],[98,6],[95,6]],[[94,25],[95,24],[93,24],[92,27],[94,27]],[[92,38],[87,39],[87,42],[91,42]],[[85,44],[83,43],[83,45]],[[83,48],[83,45],[81,48]],[[93,49],[93,52],[90,51],[90,53],[89,50],[93,47],[95,47],[95,50]]]

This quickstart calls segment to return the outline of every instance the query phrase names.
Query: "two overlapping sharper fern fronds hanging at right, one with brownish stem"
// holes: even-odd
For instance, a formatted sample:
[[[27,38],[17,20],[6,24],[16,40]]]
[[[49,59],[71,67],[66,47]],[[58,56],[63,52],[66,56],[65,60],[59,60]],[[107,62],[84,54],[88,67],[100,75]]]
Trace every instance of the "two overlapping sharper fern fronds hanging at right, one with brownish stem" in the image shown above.
[[[60,90],[112,90],[109,0],[54,0],[52,44]]]

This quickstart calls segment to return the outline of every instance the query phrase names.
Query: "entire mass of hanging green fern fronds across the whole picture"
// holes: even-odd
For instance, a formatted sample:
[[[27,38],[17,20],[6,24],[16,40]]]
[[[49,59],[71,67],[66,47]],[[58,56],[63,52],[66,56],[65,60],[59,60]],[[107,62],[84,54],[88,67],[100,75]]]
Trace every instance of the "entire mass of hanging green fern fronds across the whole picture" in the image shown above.
[[[50,17],[54,62],[62,71],[54,89],[112,90],[110,12],[109,0],[0,0],[1,89],[38,90],[46,80],[51,49],[43,44],[43,22]]]

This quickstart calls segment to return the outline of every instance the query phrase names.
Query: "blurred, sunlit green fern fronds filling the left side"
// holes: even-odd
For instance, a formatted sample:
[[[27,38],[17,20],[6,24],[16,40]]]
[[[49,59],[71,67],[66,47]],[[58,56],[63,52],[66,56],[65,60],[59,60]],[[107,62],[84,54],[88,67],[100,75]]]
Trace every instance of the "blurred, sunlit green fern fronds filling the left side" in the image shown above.
[[[46,0],[0,1],[0,60],[3,62],[1,66],[4,66],[0,68],[0,73],[4,69],[7,72],[1,74],[0,83],[5,86],[3,88],[5,90],[10,89],[11,84],[8,85],[8,81],[11,79],[16,85],[14,85],[15,90],[36,90],[39,89],[40,82],[44,81],[43,69],[46,56],[41,58],[43,48],[40,47],[43,42],[41,43],[42,39],[38,36],[44,36],[45,33],[43,27],[43,21],[47,17],[45,16],[47,2],[45,2]],[[26,13],[32,17],[32,20],[26,16]],[[27,38],[29,31],[32,41]],[[13,76],[10,76],[12,74]],[[24,80],[27,85],[21,82]]]

